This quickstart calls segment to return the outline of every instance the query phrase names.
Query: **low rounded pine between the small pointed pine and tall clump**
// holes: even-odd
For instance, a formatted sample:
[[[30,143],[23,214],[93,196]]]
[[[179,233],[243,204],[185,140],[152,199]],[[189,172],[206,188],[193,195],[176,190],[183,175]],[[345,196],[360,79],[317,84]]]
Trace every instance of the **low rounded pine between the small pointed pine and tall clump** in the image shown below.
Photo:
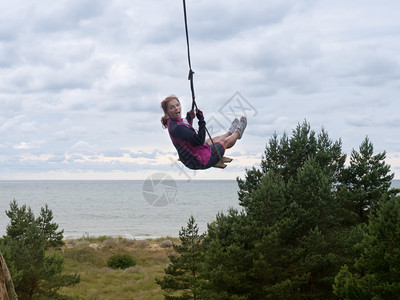
[[[249,230],[243,213],[230,209],[220,213],[216,221],[209,224],[204,240],[204,265],[202,277],[202,299],[247,299],[254,278],[249,274],[256,232]],[[250,256],[249,256],[250,255]]]

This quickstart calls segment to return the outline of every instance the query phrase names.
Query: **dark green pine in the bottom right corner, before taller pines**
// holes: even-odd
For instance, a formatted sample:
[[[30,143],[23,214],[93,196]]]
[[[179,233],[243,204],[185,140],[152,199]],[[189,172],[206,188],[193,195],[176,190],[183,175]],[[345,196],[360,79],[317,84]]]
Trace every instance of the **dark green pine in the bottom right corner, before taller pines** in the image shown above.
[[[361,243],[355,272],[343,266],[334,292],[342,299],[398,299],[400,295],[400,197],[380,202]]]

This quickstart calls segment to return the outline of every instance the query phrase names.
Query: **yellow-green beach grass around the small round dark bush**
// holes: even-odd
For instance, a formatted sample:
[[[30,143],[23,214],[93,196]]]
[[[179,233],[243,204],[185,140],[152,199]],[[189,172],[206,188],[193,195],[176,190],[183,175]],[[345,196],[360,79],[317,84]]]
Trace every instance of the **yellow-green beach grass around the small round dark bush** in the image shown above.
[[[165,275],[168,255],[173,247],[165,240],[178,243],[178,238],[132,240],[114,237],[89,237],[66,240],[58,250],[64,258],[65,273],[78,273],[80,283],[61,289],[60,293],[75,299],[164,299],[155,279]],[[131,255],[136,265],[127,269],[107,267],[115,254]]]

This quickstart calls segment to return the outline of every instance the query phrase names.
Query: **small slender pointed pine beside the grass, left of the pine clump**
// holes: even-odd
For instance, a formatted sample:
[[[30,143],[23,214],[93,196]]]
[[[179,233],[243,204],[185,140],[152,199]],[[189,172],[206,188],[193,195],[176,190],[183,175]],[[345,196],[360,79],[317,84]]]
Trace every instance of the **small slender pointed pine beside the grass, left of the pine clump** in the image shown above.
[[[165,299],[200,299],[200,266],[202,263],[203,235],[199,235],[193,216],[187,227],[179,231],[180,244],[174,244],[175,254],[169,256],[166,275],[156,282],[166,294]]]

